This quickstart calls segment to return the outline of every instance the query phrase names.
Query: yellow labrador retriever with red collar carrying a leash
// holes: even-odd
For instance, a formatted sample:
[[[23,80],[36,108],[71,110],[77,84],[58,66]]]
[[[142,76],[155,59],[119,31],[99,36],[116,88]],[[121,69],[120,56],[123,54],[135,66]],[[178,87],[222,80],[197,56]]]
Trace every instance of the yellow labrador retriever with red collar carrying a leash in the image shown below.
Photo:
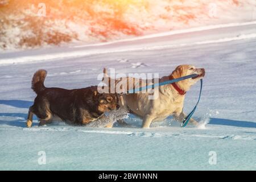
[[[148,99],[151,93],[131,93],[121,94],[120,101],[121,106],[131,113],[141,117],[143,119],[143,128],[150,127],[152,121],[162,121],[170,115],[182,122],[187,115],[183,112],[183,105],[185,99],[185,93],[199,81],[205,75],[204,68],[196,68],[193,65],[179,65],[169,76],[164,76],[159,79],[159,82],[172,80],[191,74],[197,74],[198,76],[188,78],[187,80],[179,81],[174,84],[159,86],[158,97],[154,100]],[[127,80],[135,79],[126,77]],[[103,82],[113,80],[106,73],[104,69],[104,80]],[[115,85],[118,84],[122,79],[118,78],[114,80]],[[127,81],[128,83],[129,81]],[[139,80],[142,86],[146,85],[145,80]],[[134,84],[136,85],[136,84]],[[197,125],[198,122],[195,119],[189,121],[193,125]]]

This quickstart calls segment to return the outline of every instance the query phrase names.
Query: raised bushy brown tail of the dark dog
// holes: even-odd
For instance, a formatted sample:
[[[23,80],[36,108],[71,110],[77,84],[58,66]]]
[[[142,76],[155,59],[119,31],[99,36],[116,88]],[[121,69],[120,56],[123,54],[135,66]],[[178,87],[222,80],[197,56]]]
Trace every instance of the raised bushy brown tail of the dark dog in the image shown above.
[[[44,69],[39,69],[35,72],[32,78],[32,86],[31,89],[34,90],[36,94],[42,92],[46,87],[44,86],[44,80],[46,79],[47,71]]]

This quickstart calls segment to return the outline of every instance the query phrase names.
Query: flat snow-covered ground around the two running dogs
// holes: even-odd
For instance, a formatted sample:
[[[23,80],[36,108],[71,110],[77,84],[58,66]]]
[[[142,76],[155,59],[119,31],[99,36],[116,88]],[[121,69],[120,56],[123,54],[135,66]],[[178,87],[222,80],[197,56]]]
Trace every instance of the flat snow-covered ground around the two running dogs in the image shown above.
[[[256,169],[256,22],[194,28],[97,45],[72,45],[0,54],[0,169]],[[25,126],[35,93],[33,73],[48,71],[46,86],[97,85],[102,68],[168,75],[179,64],[206,69],[194,117],[205,128],[172,120],[140,129]],[[199,95],[187,93],[185,112]],[[39,165],[39,151],[46,164]],[[216,153],[212,153],[214,151]],[[217,163],[209,163],[216,154]],[[213,156],[214,157],[214,156]]]

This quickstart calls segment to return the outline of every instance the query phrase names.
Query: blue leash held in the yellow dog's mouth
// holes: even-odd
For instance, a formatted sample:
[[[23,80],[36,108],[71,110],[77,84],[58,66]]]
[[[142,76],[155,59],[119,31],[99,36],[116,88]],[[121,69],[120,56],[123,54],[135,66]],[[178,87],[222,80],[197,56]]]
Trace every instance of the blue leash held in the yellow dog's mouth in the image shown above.
[[[163,81],[163,82],[160,82],[160,83],[157,83],[157,84],[143,86],[143,87],[137,88],[137,89],[130,89],[130,90],[127,91],[127,94],[129,94],[129,93],[136,93],[136,92],[139,92],[139,91],[142,91],[142,90],[155,88],[156,86],[163,86],[163,85],[167,85],[167,84],[172,84],[174,82],[178,82],[178,81],[181,81],[181,80],[186,80],[188,78],[192,78],[192,77],[196,77],[196,76],[197,76],[196,74],[192,74],[192,75],[183,76],[183,77],[180,77],[180,78],[175,78],[173,80]],[[200,97],[201,97],[201,92],[202,92],[202,87],[203,87],[203,79],[201,79],[200,82],[201,82],[201,88],[200,88],[199,99],[198,99],[198,101],[196,103],[196,106],[191,111],[191,113],[189,113],[187,115],[187,117],[184,118],[183,122],[180,124],[180,127],[187,126],[187,124],[188,124],[189,120],[191,119],[192,115],[195,113],[196,107],[199,104]]]

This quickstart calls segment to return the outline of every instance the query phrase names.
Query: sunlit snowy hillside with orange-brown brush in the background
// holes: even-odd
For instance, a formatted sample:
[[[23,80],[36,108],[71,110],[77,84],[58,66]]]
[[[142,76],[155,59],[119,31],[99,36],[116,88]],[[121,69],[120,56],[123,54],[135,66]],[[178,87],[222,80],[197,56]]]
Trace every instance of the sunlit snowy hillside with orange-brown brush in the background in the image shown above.
[[[2,0],[0,50],[100,43],[256,20],[254,0]]]

